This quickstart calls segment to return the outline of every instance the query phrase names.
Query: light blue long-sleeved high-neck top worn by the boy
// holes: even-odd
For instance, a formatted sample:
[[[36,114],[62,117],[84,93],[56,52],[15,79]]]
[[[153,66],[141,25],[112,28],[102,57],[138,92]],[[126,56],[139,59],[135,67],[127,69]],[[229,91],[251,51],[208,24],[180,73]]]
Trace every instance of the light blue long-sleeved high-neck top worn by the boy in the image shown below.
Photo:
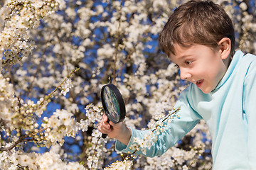
[[[190,84],[178,98],[180,119],[169,123],[146,157],[164,154],[203,119],[213,140],[213,169],[256,169],[256,56],[235,52],[218,86],[203,94]],[[132,130],[132,137],[146,131]],[[116,149],[131,152],[128,145],[116,142]],[[137,152],[142,154],[142,152]]]

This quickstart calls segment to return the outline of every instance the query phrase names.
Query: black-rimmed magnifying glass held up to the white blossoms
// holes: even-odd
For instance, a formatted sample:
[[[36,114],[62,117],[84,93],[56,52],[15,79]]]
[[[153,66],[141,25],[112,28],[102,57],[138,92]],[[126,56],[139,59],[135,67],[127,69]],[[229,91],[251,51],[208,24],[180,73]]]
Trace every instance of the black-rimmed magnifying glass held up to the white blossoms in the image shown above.
[[[102,106],[107,115],[107,122],[110,120],[113,123],[122,122],[125,118],[125,106],[121,93],[114,84],[106,84],[101,89]],[[102,137],[107,137],[107,134],[102,134]]]

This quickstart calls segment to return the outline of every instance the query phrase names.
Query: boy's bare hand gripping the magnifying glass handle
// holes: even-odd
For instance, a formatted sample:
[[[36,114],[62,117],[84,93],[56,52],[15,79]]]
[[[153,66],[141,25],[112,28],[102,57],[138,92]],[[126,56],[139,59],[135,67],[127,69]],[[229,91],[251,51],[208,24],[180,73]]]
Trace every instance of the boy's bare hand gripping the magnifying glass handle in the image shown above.
[[[107,134],[110,138],[115,138],[122,142],[124,145],[128,145],[129,140],[132,136],[132,131],[127,128],[124,123],[112,123],[110,121],[107,123],[107,115],[102,115],[102,120],[100,121],[100,125],[97,128],[100,132]]]

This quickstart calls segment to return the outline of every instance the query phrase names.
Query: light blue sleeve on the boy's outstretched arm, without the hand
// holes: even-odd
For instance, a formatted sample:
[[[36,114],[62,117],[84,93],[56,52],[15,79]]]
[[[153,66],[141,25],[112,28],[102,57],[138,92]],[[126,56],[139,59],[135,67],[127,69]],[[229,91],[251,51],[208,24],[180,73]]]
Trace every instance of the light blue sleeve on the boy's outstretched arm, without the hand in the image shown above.
[[[178,111],[179,118],[174,118],[171,123],[167,123],[164,127],[164,132],[161,132],[157,138],[154,145],[150,148],[146,148],[146,151],[142,153],[141,148],[136,154],[142,154],[146,157],[160,156],[164,154],[170,147],[173,147],[178,140],[181,139],[186,133],[188,133],[198,122],[201,120],[201,116],[196,113],[196,111],[191,108],[190,103],[188,102],[188,94],[190,87],[188,86],[184,91],[181,92],[181,95],[176,102],[174,108],[180,108]],[[128,145],[124,145],[117,140],[116,149],[119,152],[133,153],[134,152],[134,143],[133,139],[143,139],[144,135],[149,133],[149,130],[134,130],[132,129],[132,137]]]

